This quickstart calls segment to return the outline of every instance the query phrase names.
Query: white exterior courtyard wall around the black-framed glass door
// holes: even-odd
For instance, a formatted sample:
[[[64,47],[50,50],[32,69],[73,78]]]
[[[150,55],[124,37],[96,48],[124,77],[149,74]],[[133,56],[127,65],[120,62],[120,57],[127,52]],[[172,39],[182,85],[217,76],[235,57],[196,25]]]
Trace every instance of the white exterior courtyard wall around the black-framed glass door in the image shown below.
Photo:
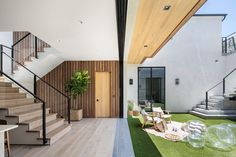
[[[145,66],[166,67],[166,109],[186,112],[202,101],[205,91],[224,75],[221,23],[222,17],[194,16],[155,57],[142,65],[127,64],[125,101],[137,102],[137,67]],[[130,78],[134,79],[133,85],[128,84]],[[176,78],[179,85],[175,85]]]

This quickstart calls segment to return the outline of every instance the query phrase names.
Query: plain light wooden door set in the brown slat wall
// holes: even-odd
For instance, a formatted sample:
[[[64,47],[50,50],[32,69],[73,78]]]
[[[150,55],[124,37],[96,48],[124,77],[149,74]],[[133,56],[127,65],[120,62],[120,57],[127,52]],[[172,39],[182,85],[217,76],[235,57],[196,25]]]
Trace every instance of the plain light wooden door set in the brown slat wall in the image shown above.
[[[95,116],[110,117],[110,73],[95,74]]]

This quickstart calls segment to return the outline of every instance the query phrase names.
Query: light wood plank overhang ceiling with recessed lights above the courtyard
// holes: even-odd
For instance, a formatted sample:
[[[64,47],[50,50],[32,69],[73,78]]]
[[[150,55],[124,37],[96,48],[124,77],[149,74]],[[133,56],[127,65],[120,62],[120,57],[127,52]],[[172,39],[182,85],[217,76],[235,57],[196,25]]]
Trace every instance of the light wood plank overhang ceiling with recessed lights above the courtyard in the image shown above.
[[[128,63],[140,64],[153,57],[205,2],[140,0]]]

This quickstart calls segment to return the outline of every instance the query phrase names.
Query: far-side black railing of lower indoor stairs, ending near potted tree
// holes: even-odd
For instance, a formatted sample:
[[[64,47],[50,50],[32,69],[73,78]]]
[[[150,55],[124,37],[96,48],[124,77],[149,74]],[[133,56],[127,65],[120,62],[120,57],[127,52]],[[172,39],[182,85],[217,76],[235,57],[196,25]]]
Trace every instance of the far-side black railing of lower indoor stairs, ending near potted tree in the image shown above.
[[[57,91],[58,93],[60,93],[62,96],[66,97],[67,99],[67,109],[68,109],[68,123],[70,124],[71,123],[71,120],[70,120],[70,109],[71,109],[71,98],[64,94],[63,92],[61,92],[59,89],[57,89],[56,87],[54,87],[53,85],[51,85],[50,83],[48,83],[47,81],[45,81],[44,79],[42,79],[40,76],[38,76],[37,74],[35,74],[34,72],[32,72],[30,69],[28,69],[27,67],[25,67],[23,64],[19,63],[17,60],[15,60],[14,58],[12,58],[11,56],[9,56],[8,54],[6,54],[2,47],[5,47],[5,48],[8,48],[8,49],[11,49],[10,47],[7,47],[5,45],[1,45],[0,44],[0,52],[1,52],[1,65],[0,65],[0,69],[2,69],[3,67],[3,61],[2,61],[2,58],[3,58],[3,54],[6,55],[8,58],[11,59],[11,62],[15,62],[17,64],[19,64],[20,66],[22,66],[24,69],[26,69],[28,72],[30,72],[31,74],[34,75],[34,94],[36,95],[37,94],[37,78],[38,80],[44,82],[46,85],[48,85],[49,87],[51,87],[52,89],[54,89],[55,91]]]

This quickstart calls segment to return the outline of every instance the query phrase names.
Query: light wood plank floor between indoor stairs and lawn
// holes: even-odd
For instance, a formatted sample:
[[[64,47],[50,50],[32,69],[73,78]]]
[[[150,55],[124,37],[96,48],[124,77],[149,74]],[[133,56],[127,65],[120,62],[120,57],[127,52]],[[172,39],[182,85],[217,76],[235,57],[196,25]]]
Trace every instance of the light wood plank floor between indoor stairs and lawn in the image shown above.
[[[117,119],[72,122],[71,131],[52,146],[11,146],[11,157],[112,157]]]

